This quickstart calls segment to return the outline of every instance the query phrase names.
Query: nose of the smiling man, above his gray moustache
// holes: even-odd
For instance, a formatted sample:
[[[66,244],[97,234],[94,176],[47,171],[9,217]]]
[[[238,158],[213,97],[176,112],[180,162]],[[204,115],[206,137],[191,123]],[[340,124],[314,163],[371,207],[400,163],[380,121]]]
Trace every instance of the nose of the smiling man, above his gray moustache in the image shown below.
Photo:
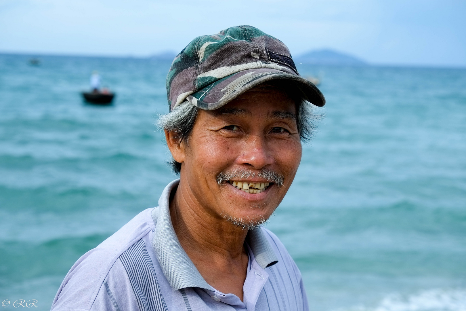
[[[274,163],[274,158],[263,136],[250,135],[244,142],[239,164],[261,169]]]

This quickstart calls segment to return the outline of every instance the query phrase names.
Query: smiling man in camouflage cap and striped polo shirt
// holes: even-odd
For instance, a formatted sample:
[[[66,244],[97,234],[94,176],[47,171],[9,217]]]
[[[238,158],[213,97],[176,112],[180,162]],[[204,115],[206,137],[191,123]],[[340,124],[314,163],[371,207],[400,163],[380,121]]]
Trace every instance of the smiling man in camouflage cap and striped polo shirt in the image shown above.
[[[52,310],[308,310],[301,273],[260,224],[295,177],[322,93],[250,26],[194,39],[167,92],[159,125],[180,179],[75,263]]]

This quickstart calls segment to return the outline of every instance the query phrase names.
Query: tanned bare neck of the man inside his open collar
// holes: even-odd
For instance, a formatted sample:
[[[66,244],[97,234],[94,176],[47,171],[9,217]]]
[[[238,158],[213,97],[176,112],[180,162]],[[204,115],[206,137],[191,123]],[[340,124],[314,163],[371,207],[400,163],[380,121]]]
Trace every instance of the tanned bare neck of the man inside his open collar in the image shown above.
[[[248,230],[209,214],[183,182],[170,200],[170,216],[181,246],[206,282],[243,300]]]

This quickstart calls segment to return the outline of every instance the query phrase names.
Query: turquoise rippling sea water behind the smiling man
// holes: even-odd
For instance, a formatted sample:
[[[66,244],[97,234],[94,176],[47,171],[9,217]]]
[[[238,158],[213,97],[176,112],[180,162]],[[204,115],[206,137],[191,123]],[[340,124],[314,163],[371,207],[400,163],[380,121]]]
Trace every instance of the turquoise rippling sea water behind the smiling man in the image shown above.
[[[174,179],[153,125],[170,64],[28,59],[0,55],[0,300],[49,310],[73,263]],[[82,102],[93,69],[114,105]],[[267,228],[311,310],[466,310],[466,69],[298,69],[323,75],[326,118]]]

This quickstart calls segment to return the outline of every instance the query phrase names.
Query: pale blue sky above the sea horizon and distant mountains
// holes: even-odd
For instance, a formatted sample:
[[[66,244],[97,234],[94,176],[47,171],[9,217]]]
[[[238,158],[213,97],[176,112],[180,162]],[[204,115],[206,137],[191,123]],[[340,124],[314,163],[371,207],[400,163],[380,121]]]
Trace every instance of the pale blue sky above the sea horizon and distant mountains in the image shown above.
[[[292,55],[466,66],[466,0],[0,0],[0,52],[148,56],[243,24]]]

